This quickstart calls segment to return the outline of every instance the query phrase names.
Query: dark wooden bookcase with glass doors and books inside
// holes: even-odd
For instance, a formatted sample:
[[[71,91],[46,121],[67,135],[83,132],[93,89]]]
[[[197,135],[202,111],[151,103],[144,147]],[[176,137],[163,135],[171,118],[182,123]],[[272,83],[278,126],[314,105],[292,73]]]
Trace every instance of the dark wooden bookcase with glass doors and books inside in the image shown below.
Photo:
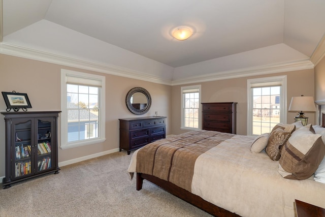
[[[6,176],[12,183],[58,173],[57,118],[60,111],[1,112],[6,123]]]

